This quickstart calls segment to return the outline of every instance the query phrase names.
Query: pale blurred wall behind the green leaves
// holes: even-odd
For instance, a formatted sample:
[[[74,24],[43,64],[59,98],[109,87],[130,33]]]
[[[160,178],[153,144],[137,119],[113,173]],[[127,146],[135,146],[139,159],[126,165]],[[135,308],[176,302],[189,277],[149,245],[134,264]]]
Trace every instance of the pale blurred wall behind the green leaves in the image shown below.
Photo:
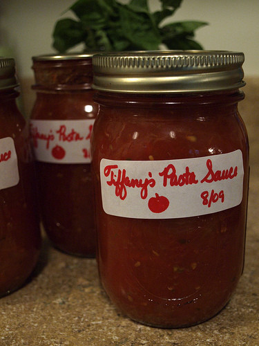
[[[54,52],[51,34],[55,21],[73,3],[73,0],[0,1],[0,45],[12,48],[21,78],[32,76],[32,55]],[[150,3],[151,8],[157,8],[159,2]],[[196,36],[204,48],[243,51],[246,75],[259,75],[259,0],[183,0],[173,21],[185,19],[208,21],[210,25],[198,30]]]

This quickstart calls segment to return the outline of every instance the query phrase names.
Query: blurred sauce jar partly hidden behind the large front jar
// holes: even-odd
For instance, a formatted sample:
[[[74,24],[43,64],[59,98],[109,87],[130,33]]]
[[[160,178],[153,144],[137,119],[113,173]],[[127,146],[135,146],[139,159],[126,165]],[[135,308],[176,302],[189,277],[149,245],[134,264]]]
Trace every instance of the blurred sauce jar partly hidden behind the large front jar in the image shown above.
[[[92,54],[33,57],[37,99],[30,131],[41,219],[55,247],[95,256],[90,134],[97,113]]]

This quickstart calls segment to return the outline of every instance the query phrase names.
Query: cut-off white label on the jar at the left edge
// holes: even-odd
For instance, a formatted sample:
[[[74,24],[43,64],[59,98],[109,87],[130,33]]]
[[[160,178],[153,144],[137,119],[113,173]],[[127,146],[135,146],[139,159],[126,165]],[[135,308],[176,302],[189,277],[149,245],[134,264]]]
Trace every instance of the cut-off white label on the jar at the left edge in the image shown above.
[[[15,143],[11,137],[0,139],[0,190],[19,183]]]

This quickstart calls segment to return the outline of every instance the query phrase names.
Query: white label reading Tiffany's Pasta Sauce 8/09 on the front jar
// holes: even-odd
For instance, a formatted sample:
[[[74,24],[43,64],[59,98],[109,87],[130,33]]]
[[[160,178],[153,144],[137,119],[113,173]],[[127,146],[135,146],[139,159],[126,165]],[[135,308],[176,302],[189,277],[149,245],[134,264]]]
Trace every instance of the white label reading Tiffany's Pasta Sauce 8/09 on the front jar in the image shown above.
[[[211,214],[242,201],[242,152],[169,161],[100,163],[109,215],[171,219]]]

